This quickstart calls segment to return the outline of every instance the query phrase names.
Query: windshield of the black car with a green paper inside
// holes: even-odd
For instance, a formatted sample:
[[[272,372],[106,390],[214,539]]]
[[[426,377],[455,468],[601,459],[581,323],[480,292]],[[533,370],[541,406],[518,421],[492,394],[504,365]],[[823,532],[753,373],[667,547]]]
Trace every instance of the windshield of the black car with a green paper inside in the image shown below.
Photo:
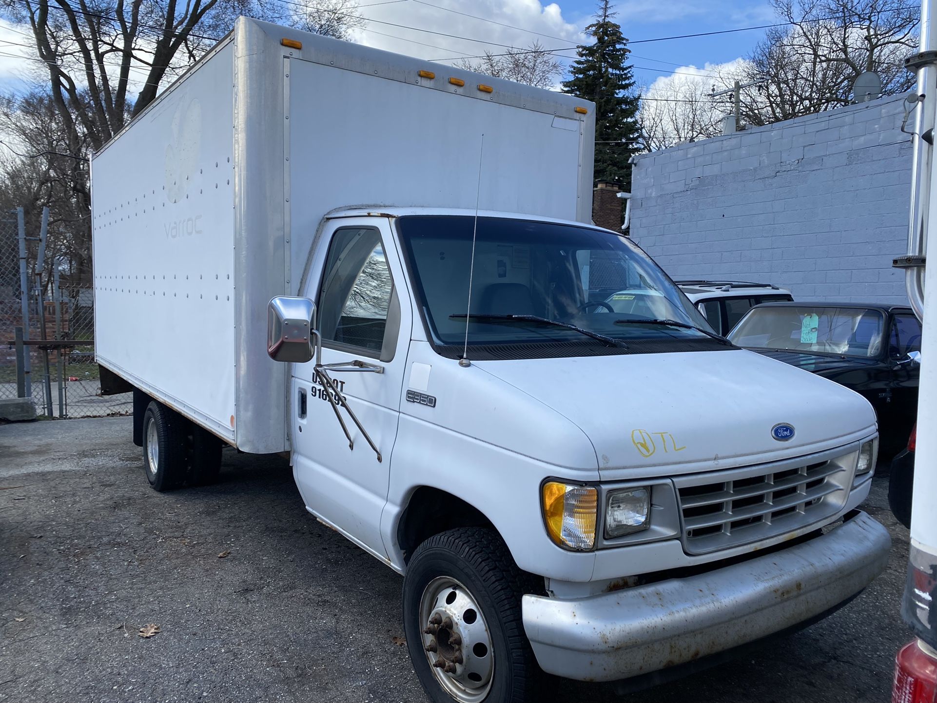
[[[753,307],[729,333],[739,347],[875,357],[885,316],[866,307]]]

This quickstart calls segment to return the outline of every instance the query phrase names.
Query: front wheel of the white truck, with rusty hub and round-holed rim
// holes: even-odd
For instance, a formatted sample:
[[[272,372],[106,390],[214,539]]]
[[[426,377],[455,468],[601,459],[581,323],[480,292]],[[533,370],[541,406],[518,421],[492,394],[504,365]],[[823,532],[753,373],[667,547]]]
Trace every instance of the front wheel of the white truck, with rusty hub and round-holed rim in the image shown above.
[[[491,530],[445,531],[417,548],[404,578],[404,628],[434,703],[535,699],[542,672],[521,618],[532,586]]]

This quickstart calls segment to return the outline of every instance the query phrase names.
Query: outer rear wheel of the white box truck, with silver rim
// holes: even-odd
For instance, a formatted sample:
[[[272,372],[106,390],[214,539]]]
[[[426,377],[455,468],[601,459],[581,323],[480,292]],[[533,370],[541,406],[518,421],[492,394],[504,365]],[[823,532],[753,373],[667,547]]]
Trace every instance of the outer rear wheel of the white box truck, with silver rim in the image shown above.
[[[160,492],[186,480],[186,418],[153,400],[143,413],[143,470]]]

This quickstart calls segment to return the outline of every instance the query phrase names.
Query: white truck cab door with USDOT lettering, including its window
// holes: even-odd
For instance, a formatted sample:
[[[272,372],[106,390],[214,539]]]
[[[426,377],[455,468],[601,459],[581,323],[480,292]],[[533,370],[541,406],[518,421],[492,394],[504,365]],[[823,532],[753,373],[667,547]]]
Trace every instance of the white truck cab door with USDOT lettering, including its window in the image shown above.
[[[403,270],[385,218],[331,220],[319,249],[302,294],[317,301],[321,363],[334,366],[328,375],[380,456],[349,412],[330,402],[335,394],[317,380],[313,360],[293,365],[293,473],[307,510],[385,557],[380,515],[411,328],[398,295]]]

